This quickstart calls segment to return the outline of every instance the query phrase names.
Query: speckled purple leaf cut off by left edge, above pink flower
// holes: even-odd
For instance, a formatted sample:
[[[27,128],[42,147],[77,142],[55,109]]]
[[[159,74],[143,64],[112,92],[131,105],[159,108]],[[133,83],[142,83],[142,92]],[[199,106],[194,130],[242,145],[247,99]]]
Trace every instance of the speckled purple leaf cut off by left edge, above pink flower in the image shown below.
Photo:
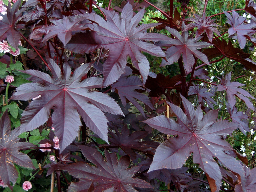
[[[0,120],[0,178],[5,185],[12,188],[18,178],[14,164],[35,169],[28,155],[19,152],[22,148],[34,147],[32,143],[18,142],[19,128],[11,131],[11,122],[5,112]],[[10,181],[13,185],[10,185]]]

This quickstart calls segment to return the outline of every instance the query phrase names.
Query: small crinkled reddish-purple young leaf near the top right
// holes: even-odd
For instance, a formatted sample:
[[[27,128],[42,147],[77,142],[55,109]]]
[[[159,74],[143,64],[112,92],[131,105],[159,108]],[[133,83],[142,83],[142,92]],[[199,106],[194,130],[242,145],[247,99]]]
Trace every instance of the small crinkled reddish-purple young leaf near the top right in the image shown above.
[[[199,15],[194,14],[194,16],[195,18],[191,17],[186,19],[187,21],[191,21],[194,23],[189,23],[184,31],[197,27],[195,38],[201,36],[205,31],[210,42],[212,42],[213,32],[220,36],[220,32],[215,28],[218,25],[214,23],[214,20],[211,20],[210,17],[205,17],[205,15],[200,17]]]

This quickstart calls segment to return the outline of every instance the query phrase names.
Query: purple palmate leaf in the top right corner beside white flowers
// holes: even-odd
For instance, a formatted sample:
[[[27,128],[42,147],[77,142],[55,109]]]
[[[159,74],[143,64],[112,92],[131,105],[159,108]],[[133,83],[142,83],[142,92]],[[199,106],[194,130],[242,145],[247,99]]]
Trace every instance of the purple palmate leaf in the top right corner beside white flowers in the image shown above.
[[[228,29],[229,36],[232,36],[236,34],[239,46],[241,49],[244,48],[246,40],[245,37],[247,37],[249,40],[255,42],[255,39],[252,37],[253,34],[255,34],[255,27],[256,24],[253,23],[247,23],[244,24],[244,21],[246,18],[243,16],[239,16],[238,13],[235,11],[232,11],[232,16],[224,12],[227,16],[228,20],[226,21],[229,25],[231,25],[231,28]]]

